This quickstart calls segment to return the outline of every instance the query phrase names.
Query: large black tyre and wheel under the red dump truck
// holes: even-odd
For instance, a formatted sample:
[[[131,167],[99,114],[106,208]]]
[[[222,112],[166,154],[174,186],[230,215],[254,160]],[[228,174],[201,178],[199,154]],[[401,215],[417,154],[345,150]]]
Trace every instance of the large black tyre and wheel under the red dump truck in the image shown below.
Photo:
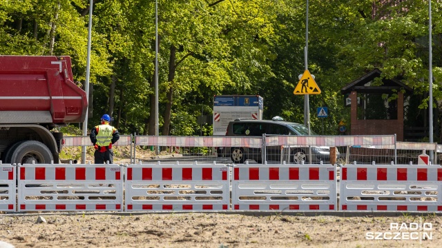
[[[24,141],[15,147],[11,156],[11,163],[30,164],[51,163],[54,158],[50,149],[39,141]]]

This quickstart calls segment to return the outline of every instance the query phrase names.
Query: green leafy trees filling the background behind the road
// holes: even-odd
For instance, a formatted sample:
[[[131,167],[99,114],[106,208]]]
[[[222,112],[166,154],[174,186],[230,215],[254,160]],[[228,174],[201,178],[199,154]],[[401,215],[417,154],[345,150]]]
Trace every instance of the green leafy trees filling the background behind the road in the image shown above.
[[[122,134],[147,133],[155,118],[154,1],[102,0],[93,7],[88,125],[109,113]],[[279,115],[304,123],[304,97],[293,90],[305,70],[305,1],[177,0],[159,1],[158,9],[159,122],[167,125],[171,116],[169,134],[211,135],[211,126],[197,118],[201,110],[211,114],[215,94],[260,94],[265,118]],[[396,6],[310,1],[307,62],[322,90],[309,96],[312,130],[320,132],[325,125],[325,134],[339,134],[339,121],[350,121],[340,89],[374,68],[383,78],[400,79],[414,89],[410,112],[425,111],[427,10],[427,1]],[[442,100],[441,1],[432,2],[432,11],[437,107]],[[87,42],[88,1],[1,3],[0,54],[71,56],[74,79],[84,84]],[[328,107],[329,117],[317,118],[316,107]]]

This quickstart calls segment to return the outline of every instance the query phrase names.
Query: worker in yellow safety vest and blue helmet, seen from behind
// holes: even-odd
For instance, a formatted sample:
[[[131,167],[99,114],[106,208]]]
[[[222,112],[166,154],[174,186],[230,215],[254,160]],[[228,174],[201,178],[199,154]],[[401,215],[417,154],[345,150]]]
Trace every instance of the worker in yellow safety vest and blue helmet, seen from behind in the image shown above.
[[[95,164],[103,164],[106,161],[113,163],[112,145],[119,139],[118,130],[109,125],[111,117],[108,114],[102,116],[102,125],[97,125],[90,131],[90,141],[94,144]]]

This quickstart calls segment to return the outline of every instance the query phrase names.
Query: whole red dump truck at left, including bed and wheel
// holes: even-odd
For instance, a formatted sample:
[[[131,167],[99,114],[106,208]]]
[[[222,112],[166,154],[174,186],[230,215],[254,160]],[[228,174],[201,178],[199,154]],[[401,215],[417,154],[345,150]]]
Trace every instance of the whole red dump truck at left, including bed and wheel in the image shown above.
[[[2,163],[59,163],[55,127],[83,122],[88,107],[71,67],[69,56],[0,56]]]

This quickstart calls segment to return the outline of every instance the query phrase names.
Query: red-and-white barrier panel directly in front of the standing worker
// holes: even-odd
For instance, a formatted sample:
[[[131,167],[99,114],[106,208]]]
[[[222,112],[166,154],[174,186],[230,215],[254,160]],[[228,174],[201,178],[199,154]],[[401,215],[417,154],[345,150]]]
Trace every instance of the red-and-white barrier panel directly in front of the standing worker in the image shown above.
[[[23,165],[19,211],[122,211],[124,167]]]

